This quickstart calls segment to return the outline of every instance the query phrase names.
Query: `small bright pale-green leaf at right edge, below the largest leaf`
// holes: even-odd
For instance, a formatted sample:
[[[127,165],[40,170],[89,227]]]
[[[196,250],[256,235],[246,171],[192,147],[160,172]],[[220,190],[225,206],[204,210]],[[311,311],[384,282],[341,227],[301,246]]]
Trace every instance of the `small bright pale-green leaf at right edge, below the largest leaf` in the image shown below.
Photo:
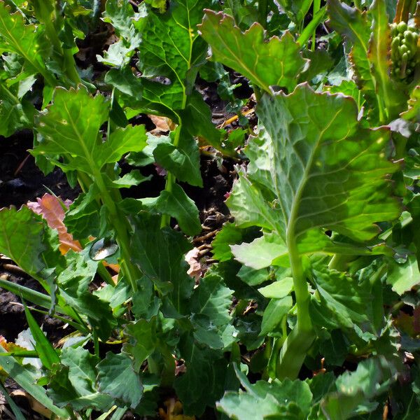
[[[411,290],[420,283],[419,265],[415,255],[409,255],[403,264],[393,262],[386,283],[391,284],[392,290],[398,295]]]

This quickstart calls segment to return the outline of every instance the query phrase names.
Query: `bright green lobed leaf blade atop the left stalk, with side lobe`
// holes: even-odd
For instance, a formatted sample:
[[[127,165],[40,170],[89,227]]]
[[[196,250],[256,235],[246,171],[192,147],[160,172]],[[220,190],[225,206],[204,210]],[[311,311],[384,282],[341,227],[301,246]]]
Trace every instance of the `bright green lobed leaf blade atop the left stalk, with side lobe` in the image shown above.
[[[48,113],[36,125],[43,141],[32,154],[47,155],[64,170],[76,169],[97,176],[106,163],[146,146],[146,133],[140,125],[117,129],[103,142],[99,129],[108,114],[109,104],[101,95],[91,97],[83,88],[57,89]],[[57,161],[56,155],[65,157],[66,162]]]

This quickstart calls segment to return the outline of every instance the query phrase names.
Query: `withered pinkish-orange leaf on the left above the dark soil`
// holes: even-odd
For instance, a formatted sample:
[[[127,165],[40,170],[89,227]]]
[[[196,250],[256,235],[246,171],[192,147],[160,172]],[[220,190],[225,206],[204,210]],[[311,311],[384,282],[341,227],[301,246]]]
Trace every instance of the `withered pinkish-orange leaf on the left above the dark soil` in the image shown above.
[[[64,202],[64,205],[69,202]],[[28,202],[29,209],[36,214],[40,214],[47,221],[50,228],[57,230],[60,241],[59,250],[64,255],[69,249],[81,251],[82,246],[79,241],[73,239],[73,235],[67,232],[64,225],[64,209],[60,200],[51,194],[44,194],[42,198],[37,198],[36,202]]]

